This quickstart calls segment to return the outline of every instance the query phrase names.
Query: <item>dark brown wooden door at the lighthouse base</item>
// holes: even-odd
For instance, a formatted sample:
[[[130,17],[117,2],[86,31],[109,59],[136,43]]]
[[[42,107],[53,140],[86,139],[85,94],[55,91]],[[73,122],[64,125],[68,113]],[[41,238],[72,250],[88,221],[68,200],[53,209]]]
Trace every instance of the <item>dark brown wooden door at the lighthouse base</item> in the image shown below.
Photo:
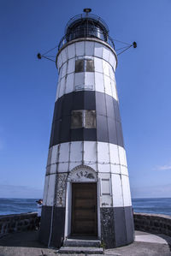
[[[97,236],[97,183],[73,183],[71,232]]]

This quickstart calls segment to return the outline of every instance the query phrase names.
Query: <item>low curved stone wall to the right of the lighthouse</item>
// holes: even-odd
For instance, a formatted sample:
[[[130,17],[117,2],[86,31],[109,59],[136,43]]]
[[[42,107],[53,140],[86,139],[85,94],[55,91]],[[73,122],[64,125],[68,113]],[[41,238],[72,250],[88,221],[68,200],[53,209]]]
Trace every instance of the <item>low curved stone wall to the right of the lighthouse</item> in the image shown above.
[[[134,213],[135,230],[171,236],[171,216],[162,214]]]

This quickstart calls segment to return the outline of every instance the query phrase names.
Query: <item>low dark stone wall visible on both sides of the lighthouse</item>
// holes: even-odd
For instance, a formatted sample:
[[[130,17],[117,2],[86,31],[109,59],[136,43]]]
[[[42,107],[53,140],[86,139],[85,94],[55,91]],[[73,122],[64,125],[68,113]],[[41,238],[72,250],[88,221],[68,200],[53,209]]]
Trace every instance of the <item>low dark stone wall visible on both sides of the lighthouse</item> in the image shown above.
[[[134,213],[136,230],[171,236],[171,216],[162,214]],[[36,228],[37,213],[21,213],[0,216],[0,237],[17,231]]]

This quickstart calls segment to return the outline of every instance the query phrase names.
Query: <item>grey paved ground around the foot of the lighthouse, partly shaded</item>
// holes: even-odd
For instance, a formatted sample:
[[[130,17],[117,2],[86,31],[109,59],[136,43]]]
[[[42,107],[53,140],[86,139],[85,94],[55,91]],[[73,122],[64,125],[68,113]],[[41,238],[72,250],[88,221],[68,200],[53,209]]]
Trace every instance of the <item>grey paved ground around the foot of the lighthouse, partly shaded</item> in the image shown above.
[[[38,242],[38,231],[26,231],[5,235],[0,239],[0,256],[85,256],[88,253],[58,253],[56,249],[44,247]],[[93,255],[93,254],[91,254]],[[98,255],[97,253],[94,255]],[[99,254],[102,255],[102,254]],[[104,250],[103,255],[171,255],[171,237],[168,235],[135,231],[135,241],[126,247]]]

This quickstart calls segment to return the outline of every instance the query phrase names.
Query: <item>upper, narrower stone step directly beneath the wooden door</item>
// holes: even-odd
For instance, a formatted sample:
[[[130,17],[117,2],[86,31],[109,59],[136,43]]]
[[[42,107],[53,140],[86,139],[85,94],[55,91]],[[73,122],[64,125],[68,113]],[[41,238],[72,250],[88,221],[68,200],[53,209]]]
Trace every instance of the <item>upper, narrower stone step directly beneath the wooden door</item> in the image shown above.
[[[64,247],[100,247],[100,240],[71,239],[63,241]]]

